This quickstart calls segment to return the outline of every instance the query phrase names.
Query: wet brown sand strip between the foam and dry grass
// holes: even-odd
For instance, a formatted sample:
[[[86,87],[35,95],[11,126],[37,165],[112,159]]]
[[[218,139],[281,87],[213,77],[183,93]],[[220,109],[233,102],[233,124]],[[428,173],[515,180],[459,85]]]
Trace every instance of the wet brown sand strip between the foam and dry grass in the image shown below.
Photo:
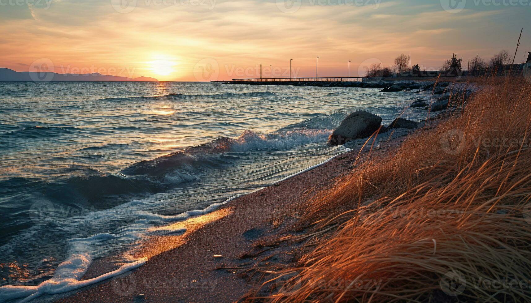
[[[416,131],[422,127],[421,125],[408,131]],[[385,146],[374,148],[373,152],[388,152],[400,144],[401,138],[407,133],[389,132],[387,135],[392,136],[392,139],[384,144]],[[387,137],[383,134],[380,142],[386,141]],[[361,154],[365,154],[367,150],[368,148],[365,148]],[[338,177],[348,175],[350,169],[355,166],[359,153],[359,149],[347,149],[270,186],[229,198],[228,202],[219,205],[213,212],[193,217],[190,221],[175,223],[186,228],[183,235],[170,236],[180,238],[173,240],[178,242],[177,245],[169,243],[173,241],[168,238],[150,239],[148,243],[144,243],[142,248],[138,249],[144,252],[135,257],[148,257],[148,260],[137,269],[89,287],[55,296],[46,295],[42,299],[57,302],[129,302],[144,299],[236,301],[245,295],[250,287],[243,279],[245,274],[242,269],[256,262],[259,256],[267,255],[268,248],[253,247],[255,241],[266,241],[293,233],[289,227],[292,226],[290,223],[296,221],[295,218],[285,217],[279,226],[271,220],[290,210],[289,205],[295,201],[302,201],[307,195],[331,185]],[[163,248],[153,254],[153,247]],[[292,248],[276,247],[275,251],[278,253],[279,249],[283,249],[288,253]],[[213,257],[218,255],[222,257]],[[104,265],[95,262],[83,279],[93,278],[105,270]],[[134,278],[131,278],[131,275]],[[133,290],[117,290],[119,284],[127,284],[127,281],[131,280],[135,281]],[[156,283],[153,284],[153,281]],[[174,287],[175,281],[177,287]],[[191,284],[192,281],[215,284],[214,290],[196,287]],[[183,287],[185,284],[187,287]]]

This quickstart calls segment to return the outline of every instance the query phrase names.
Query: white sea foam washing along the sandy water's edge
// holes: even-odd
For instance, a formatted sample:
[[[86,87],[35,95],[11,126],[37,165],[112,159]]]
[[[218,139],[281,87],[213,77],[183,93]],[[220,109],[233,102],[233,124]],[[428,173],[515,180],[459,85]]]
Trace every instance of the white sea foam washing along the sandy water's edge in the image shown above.
[[[316,167],[319,167],[323,165],[324,163],[329,162],[333,158],[338,157],[340,154],[351,151],[351,150],[352,149],[345,149],[343,152],[336,154],[333,157],[330,157],[329,159],[319,164],[316,164],[306,169],[303,169],[301,171],[298,171],[295,174],[282,178],[273,184],[277,184],[281,181],[284,181],[294,176],[303,174],[304,172],[312,170]],[[165,224],[169,226],[168,223],[183,221],[191,217],[196,217],[199,215],[204,215],[204,214],[213,212],[219,209],[219,207],[221,207],[222,205],[225,205],[238,197],[251,194],[254,192],[258,192],[263,188],[264,187],[260,187],[250,192],[234,195],[228,198],[227,200],[225,200],[224,202],[213,203],[203,210],[191,210],[191,211],[186,211],[178,215],[168,216],[168,215],[153,214],[153,213],[142,211],[142,210],[135,210],[132,212],[132,214],[135,216],[135,218],[138,218],[138,219],[135,220],[134,223],[131,224],[130,226],[119,229],[117,234],[102,232],[102,233],[98,233],[97,235],[93,235],[87,238],[73,238],[73,239],[68,240],[68,243],[71,245],[71,256],[68,259],[66,259],[66,261],[62,262],[61,264],[57,266],[54,276],[51,279],[44,281],[37,286],[4,285],[0,287],[0,301],[22,299],[21,302],[26,302],[26,301],[30,301],[44,294],[54,295],[57,293],[63,293],[63,292],[68,292],[68,291],[72,291],[75,289],[79,289],[79,288],[82,288],[82,287],[85,287],[85,286],[88,286],[94,283],[98,283],[100,281],[103,281],[109,278],[113,278],[114,276],[123,274],[127,271],[136,269],[137,267],[140,267],[141,265],[143,265],[147,261],[147,259],[146,258],[132,259],[130,260],[131,261],[130,263],[123,264],[117,270],[99,275],[96,278],[92,278],[88,280],[81,280],[81,278],[83,278],[83,275],[87,272],[90,265],[92,264],[93,256],[97,255],[97,253],[95,253],[94,251],[95,247],[102,247],[101,245],[102,242],[112,240],[112,239],[118,239],[118,238],[122,238],[122,239],[127,238],[127,239],[135,240],[135,239],[142,239],[144,237],[153,236],[153,232],[151,233],[148,232],[148,229],[151,226],[153,226],[152,222],[155,222],[161,226],[164,226]],[[122,204],[118,207],[115,207],[115,209],[93,213],[88,216],[91,218],[84,218],[84,219],[85,220],[105,219],[109,215],[120,215],[121,213],[118,212],[117,209],[124,209],[127,207],[131,207],[135,209],[143,205],[144,203],[142,201],[135,200],[135,201]],[[162,229],[157,229],[155,232],[157,233],[157,235],[161,235],[161,234],[163,235],[174,234],[175,235],[175,233],[184,233],[185,231],[186,230],[183,228],[168,228],[168,229],[162,228]]]

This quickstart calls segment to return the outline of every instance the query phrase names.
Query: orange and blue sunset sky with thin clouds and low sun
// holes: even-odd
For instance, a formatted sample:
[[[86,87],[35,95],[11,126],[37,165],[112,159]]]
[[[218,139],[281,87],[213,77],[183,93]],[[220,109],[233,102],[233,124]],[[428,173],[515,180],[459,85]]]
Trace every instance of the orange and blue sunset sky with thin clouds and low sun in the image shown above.
[[[210,81],[271,65],[288,77],[290,59],[292,76],[316,63],[319,76],[364,76],[402,53],[437,70],[456,53],[466,68],[512,58],[521,28],[523,62],[530,19],[531,0],[0,0],[0,67]]]

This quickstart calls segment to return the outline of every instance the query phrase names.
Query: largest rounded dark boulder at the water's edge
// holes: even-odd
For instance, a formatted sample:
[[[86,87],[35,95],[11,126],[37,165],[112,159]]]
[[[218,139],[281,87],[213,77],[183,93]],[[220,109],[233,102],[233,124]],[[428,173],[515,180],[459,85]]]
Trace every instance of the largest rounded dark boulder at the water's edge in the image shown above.
[[[380,128],[382,118],[364,110],[357,110],[348,115],[328,138],[329,145],[371,136]]]

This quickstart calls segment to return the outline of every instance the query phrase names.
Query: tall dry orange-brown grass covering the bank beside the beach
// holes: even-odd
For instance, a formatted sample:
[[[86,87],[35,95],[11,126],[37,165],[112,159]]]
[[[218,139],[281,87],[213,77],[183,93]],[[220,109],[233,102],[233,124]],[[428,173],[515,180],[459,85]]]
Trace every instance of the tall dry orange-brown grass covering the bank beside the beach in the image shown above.
[[[482,83],[494,86],[299,205],[303,257],[278,292],[247,298],[530,301],[531,84]]]

